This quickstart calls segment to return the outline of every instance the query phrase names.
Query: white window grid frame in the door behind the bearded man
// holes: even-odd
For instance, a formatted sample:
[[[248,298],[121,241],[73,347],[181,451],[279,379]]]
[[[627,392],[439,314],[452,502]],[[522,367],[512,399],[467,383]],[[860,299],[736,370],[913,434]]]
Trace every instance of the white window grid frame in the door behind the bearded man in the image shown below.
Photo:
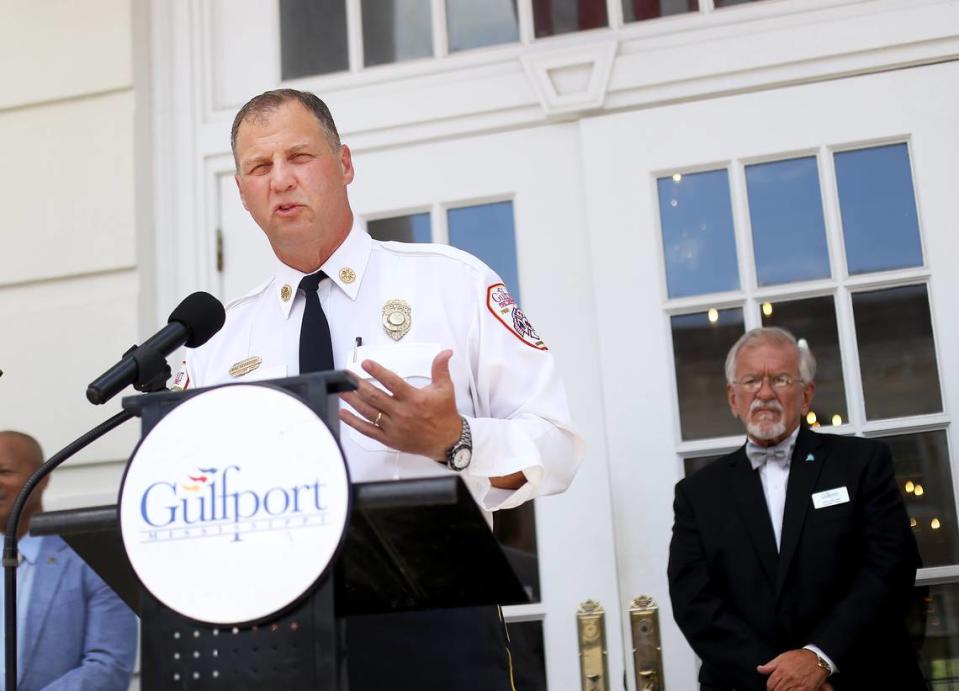
[[[908,267],[890,271],[871,272],[867,274],[850,275],[847,270],[845,255],[845,241],[842,230],[842,219],[839,209],[839,190],[835,176],[834,155],[842,151],[850,151],[890,144],[905,144],[909,155],[910,174],[913,181],[913,195],[918,216],[920,247],[923,263],[917,267]],[[755,270],[755,255],[752,243],[752,227],[750,225],[749,202],[746,189],[746,166],[756,163],[788,160],[803,156],[816,156],[819,171],[820,195],[823,205],[823,220],[826,233],[826,244],[829,253],[830,277],[795,283],[784,283],[773,286],[760,287],[757,284]],[[670,318],[683,314],[701,314],[709,309],[740,308],[743,311],[743,326],[746,331],[762,325],[760,316],[761,305],[764,302],[782,302],[800,300],[804,298],[831,296],[836,311],[836,326],[839,337],[839,351],[843,371],[843,385],[846,395],[846,414],[848,419],[841,425],[823,426],[830,433],[858,434],[864,437],[877,438],[901,434],[929,432],[942,430],[946,432],[947,461],[951,459],[954,449],[949,442],[949,427],[952,424],[945,382],[942,376],[940,343],[936,334],[936,313],[932,308],[935,301],[933,291],[932,272],[928,266],[928,250],[926,246],[926,231],[923,225],[922,206],[919,190],[916,188],[916,171],[914,151],[911,138],[908,135],[894,135],[881,139],[825,144],[816,149],[802,149],[795,151],[780,151],[762,156],[737,158],[727,161],[704,163],[684,166],[673,170],[655,171],[651,175],[650,184],[655,188],[657,180],[669,177],[674,173],[683,175],[712,170],[726,170],[729,179],[729,193],[732,208],[734,238],[736,242],[737,267],[739,271],[740,288],[734,291],[710,293],[682,298],[668,297],[666,282],[666,266],[663,261],[662,219],[659,207],[656,206],[655,233],[660,266],[660,290],[663,299],[664,324],[667,333],[667,342],[670,344],[670,364],[675,372],[675,351],[672,349],[672,327]],[[654,198],[658,195],[654,194]],[[925,285],[929,300],[930,320],[932,324],[933,344],[936,354],[936,370],[939,378],[942,412],[912,415],[883,420],[867,420],[865,398],[862,390],[862,374],[859,364],[858,342],[856,340],[855,320],[853,318],[852,295],[854,293],[896,288],[907,285]],[[672,376],[674,436],[676,439],[677,462],[680,465],[680,476],[684,474],[682,465],[686,458],[728,453],[741,444],[741,435],[729,437],[713,437],[696,440],[683,440],[681,431],[679,390],[675,375]],[[950,463],[950,473],[954,472],[955,465]],[[956,478],[953,479],[955,485]],[[954,501],[957,498],[954,497]],[[956,507],[953,507],[956,508]],[[959,513],[957,513],[959,515]],[[959,579],[959,562],[947,566],[927,567],[917,572],[917,585],[936,585],[951,583]]]

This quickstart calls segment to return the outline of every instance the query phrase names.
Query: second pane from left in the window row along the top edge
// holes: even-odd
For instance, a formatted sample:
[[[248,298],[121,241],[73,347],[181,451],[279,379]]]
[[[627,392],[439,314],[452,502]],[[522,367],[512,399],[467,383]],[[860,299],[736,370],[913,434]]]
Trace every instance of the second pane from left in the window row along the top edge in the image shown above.
[[[430,0],[363,0],[361,11],[367,67],[433,54]]]

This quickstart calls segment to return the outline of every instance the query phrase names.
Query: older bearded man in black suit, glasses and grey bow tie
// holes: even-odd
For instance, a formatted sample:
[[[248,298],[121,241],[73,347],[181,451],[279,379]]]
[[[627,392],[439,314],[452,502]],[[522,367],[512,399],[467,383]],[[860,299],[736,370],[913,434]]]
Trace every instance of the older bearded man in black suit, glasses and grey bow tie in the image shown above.
[[[704,691],[926,688],[889,449],[801,426],[815,369],[788,331],[740,338],[726,380],[747,442],[676,485],[669,590]]]

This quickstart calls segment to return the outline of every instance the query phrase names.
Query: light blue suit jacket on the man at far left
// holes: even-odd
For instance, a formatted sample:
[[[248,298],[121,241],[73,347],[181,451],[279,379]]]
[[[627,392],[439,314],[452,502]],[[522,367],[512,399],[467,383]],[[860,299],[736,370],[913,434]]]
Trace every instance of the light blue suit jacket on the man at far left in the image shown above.
[[[137,620],[58,537],[43,539],[27,605],[19,691],[126,691]]]

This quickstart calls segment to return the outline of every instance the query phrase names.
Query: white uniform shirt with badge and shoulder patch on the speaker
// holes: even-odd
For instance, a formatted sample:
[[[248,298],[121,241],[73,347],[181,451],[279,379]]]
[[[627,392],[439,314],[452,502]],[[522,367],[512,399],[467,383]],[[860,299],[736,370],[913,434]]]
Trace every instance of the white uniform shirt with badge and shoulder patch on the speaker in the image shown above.
[[[564,387],[552,355],[489,267],[445,245],[378,242],[354,225],[321,268],[330,277],[318,292],[337,369],[368,376],[359,364],[371,359],[424,386],[437,353],[453,350],[456,406],[473,436],[472,462],[462,475],[481,507],[510,508],[566,489],[581,442]],[[188,351],[174,388],[297,375],[305,304],[297,286],[303,275],[276,260],[266,283],[227,306],[223,329]],[[383,326],[383,307],[395,299],[412,310],[410,330],[398,341]],[[357,338],[362,338],[358,349]],[[254,356],[263,359],[256,370],[236,378],[229,374],[233,364]],[[355,482],[452,472],[345,424],[340,443]],[[518,490],[489,483],[490,477],[517,471],[527,478]]]

